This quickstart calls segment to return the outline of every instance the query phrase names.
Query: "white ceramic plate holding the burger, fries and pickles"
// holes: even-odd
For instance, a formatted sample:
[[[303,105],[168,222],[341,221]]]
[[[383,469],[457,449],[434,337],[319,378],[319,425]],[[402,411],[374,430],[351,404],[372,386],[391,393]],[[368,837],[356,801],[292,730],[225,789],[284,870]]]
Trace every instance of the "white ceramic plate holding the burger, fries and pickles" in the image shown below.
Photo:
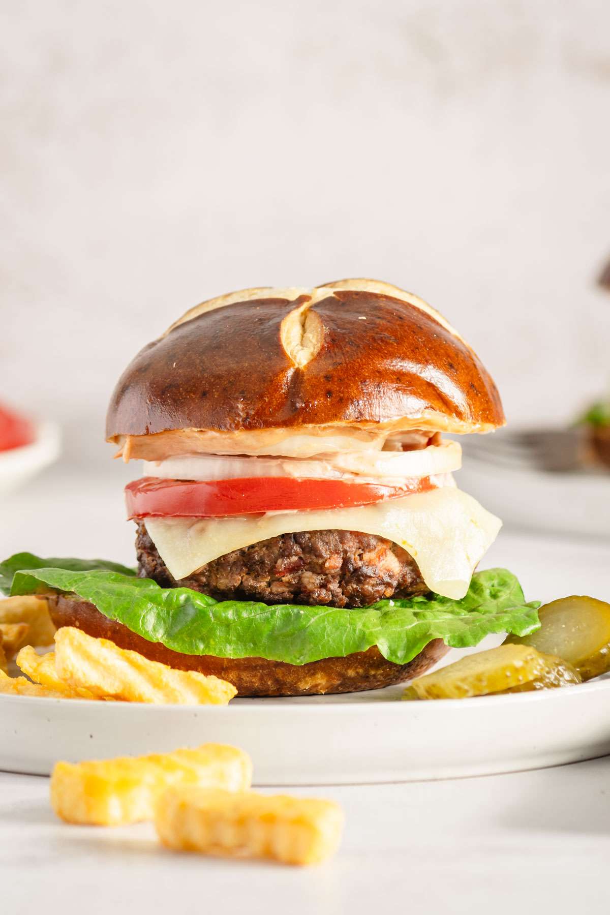
[[[0,769],[46,775],[94,759],[215,741],[246,749],[259,785],[459,778],[610,753],[610,682],[401,702],[402,688],[225,707],[0,696]]]

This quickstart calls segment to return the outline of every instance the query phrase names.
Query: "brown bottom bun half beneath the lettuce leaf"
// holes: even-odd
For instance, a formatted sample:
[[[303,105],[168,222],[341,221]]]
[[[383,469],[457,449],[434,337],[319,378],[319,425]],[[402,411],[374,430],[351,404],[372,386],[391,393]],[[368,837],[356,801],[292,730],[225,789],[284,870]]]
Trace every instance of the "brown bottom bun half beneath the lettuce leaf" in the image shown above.
[[[312,695],[380,689],[420,676],[449,651],[442,640],[435,639],[408,664],[392,664],[376,648],[369,648],[347,658],[325,658],[302,666],[263,658],[180,654],[160,642],[143,639],[123,623],[108,619],[86,600],[59,595],[50,597],[48,604],[58,628],[77,626],[96,638],[112,640],[120,648],[138,651],[151,661],[182,671],[213,673],[233,684],[239,695]]]

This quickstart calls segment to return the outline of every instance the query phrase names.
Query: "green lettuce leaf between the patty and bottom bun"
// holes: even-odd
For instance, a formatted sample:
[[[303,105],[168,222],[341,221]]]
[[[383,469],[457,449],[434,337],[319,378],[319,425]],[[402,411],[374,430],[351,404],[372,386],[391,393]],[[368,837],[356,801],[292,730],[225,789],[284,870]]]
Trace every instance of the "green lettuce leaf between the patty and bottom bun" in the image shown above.
[[[519,581],[506,569],[477,572],[462,600],[432,595],[346,610],[219,602],[190,588],[159,587],[132,570],[122,574],[113,564],[91,567],[91,562],[83,570],[82,565],[75,568],[78,560],[70,565],[64,560],[63,567],[53,568],[35,556],[24,562],[27,556],[17,554],[0,565],[5,580],[13,571],[11,594],[32,594],[46,586],[78,595],[144,639],[182,654],[305,664],[377,645],[388,661],[404,664],[433,639],[467,648],[492,632],[523,636],[540,626],[540,605],[525,603]],[[18,557],[22,565],[17,570]]]

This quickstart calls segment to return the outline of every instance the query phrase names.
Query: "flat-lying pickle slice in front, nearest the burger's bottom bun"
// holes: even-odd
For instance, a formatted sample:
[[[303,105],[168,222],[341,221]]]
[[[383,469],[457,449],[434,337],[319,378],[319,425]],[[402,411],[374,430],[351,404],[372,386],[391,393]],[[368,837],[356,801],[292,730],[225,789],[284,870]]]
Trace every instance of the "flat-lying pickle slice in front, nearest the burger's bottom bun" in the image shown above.
[[[466,699],[503,693],[542,676],[546,659],[529,645],[500,645],[468,654],[407,686],[405,699]]]

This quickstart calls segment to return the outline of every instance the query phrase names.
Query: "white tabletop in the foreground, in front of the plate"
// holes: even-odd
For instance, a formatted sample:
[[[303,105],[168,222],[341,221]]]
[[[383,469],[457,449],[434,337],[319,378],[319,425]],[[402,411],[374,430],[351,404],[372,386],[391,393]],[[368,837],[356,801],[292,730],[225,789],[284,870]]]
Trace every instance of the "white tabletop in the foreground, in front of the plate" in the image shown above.
[[[346,811],[306,870],[175,855],[148,824],[67,826],[48,780],[0,774],[0,908],[11,915],[594,912],[607,898],[610,758],[444,782],[299,789]]]

